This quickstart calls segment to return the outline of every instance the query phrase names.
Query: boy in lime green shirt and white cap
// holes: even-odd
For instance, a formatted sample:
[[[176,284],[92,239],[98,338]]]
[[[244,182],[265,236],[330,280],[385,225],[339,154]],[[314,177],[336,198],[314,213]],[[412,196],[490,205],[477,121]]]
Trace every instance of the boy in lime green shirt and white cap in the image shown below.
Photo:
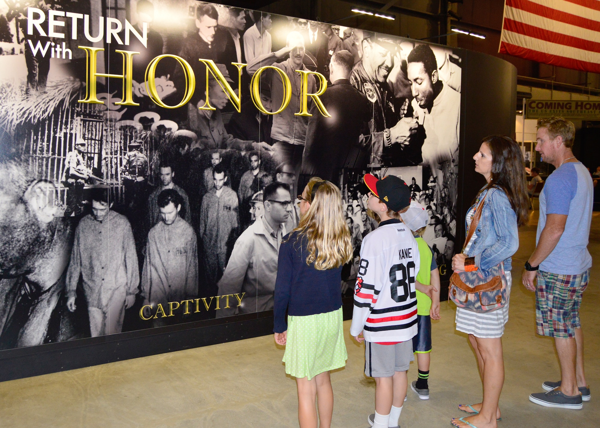
[[[433,250],[421,237],[429,222],[429,216],[425,207],[417,201],[410,203],[409,209],[402,214],[402,221],[413,231],[417,245],[419,246],[419,259],[421,269],[416,276],[417,282],[423,285],[433,285],[433,296],[416,291],[416,324],[417,334],[413,337],[413,352],[416,353],[419,377],[412,381],[410,388],[415,391],[421,400],[429,399],[429,364],[431,362],[431,318],[440,319],[440,273],[437,272],[436,260]]]

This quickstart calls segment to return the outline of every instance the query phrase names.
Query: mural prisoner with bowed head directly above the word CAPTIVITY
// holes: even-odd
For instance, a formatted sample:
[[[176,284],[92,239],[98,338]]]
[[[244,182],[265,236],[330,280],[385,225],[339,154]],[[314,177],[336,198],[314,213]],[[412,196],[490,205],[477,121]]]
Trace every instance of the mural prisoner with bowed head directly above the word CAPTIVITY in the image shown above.
[[[166,189],[155,201],[160,209],[160,221],[152,227],[146,243],[146,258],[142,270],[144,305],[181,302],[198,295],[198,254],[196,233],[179,215],[184,203],[176,189]],[[175,317],[181,321],[181,317]],[[153,326],[164,325],[157,318]]]

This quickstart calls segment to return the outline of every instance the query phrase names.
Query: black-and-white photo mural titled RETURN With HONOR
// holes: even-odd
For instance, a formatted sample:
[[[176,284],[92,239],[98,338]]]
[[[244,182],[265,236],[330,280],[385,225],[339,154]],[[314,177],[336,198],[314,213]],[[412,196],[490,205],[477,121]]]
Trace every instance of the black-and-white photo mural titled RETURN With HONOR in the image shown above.
[[[80,46],[103,48],[98,103],[79,102],[93,83]],[[461,98],[451,48],[194,0],[0,0],[0,47],[1,349],[273,309],[281,241],[314,176],[343,195],[354,250],[344,296],[378,223],[365,173],[409,185],[449,278]],[[135,106],[122,104],[119,50],[139,52]],[[166,106],[189,89],[173,57],[194,73],[181,107],[149,93],[160,55]],[[302,88],[325,84],[321,104],[307,97],[308,114],[295,114]]]

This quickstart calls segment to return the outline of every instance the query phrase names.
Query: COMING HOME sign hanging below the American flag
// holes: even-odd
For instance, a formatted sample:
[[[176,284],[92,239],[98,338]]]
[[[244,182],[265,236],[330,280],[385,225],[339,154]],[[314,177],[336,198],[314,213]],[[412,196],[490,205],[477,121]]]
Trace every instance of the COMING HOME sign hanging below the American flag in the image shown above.
[[[600,120],[600,101],[527,100],[527,119],[560,116],[565,119]]]

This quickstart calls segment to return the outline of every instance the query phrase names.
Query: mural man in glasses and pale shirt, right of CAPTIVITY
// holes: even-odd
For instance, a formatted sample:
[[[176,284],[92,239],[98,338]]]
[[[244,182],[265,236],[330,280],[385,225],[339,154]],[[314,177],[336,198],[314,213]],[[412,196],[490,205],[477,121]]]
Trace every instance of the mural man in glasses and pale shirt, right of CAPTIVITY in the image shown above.
[[[239,236],[219,281],[219,296],[230,296],[230,300],[229,308],[221,305],[217,318],[273,309],[279,247],[293,210],[290,187],[281,182],[269,184],[263,191],[263,204],[264,215]],[[232,296],[236,293],[245,293],[241,302]]]

